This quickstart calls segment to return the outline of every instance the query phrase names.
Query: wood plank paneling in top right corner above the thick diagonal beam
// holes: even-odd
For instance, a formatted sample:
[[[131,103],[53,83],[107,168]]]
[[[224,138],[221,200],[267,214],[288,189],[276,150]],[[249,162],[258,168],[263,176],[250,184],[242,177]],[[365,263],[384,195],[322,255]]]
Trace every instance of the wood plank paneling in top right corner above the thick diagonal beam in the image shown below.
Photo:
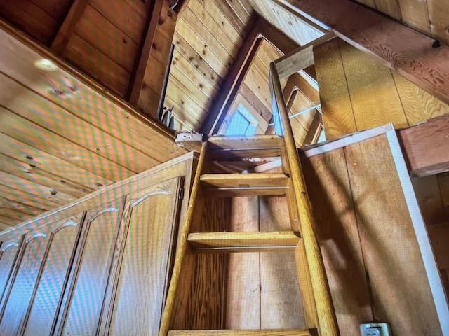
[[[357,0],[443,43],[449,43],[448,0]]]

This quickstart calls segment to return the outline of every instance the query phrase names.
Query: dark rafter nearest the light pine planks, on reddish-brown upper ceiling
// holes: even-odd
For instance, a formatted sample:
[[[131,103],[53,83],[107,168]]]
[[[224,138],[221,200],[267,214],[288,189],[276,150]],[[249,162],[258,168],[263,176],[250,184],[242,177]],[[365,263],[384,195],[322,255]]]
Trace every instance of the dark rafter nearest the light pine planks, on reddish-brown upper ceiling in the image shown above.
[[[145,71],[147,70],[150,53],[152,52],[154,37],[158,27],[159,18],[161,17],[162,8],[165,0],[154,0],[152,8],[150,8],[149,19],[147,22],[147,30],[142,41],[138,59],[135,62],[135,69],[130,80],[127,99],[132,106],[138,106],[140,92],[142,91]],[[168,5],[168,2],[166,3]]]

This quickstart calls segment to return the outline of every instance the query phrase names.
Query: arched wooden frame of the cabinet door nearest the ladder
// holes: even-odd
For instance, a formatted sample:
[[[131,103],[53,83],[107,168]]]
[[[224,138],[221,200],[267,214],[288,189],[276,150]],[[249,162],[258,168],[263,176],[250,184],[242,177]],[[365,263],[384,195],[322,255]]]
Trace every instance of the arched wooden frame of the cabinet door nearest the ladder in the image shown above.
[[[162,298],[162,305],[161,305],[161,314],[163,311],[163,307],[165,305],[166,301],[166,295],[168,292],[168,286],[170,285],[170,278],[171,278],[171,272],[173,269],[173,262],[175,257],[175,248],[177,243],[177,231],[179,227],[180,222],[180,211],[182,206],[182,200],[180,200],[180,190],[184,190],[184,179],[182,176],[173,177],[171,179],[165,180],[165,181],[159,181],[158,183],[154,183],[151,186],[147,186],[141,190],[138,190],[130,195],[128,195],[125,209],[123,211],[123,216],[121,219],[121,230],[123,230],[123,234],[121,235],[121,244],[119,246],[119,257],[118,262],[115,269],[114,274],[114,283],[112,285],[112,293],[110,297],[109,304],[107,307],[109,307],[107,311],[107,321],[105,325],[103,325],[101,329],[100,335],[109,335],[112,328],[112,322],[114,318],[114,311],[116,309],[117,304],[117,295],[119,291],[119,282],[120,282],[120,276],[121,276],[121,267],[123,265],[123,257],[126,251],[126,240],[128,238],[128,232],[130,228],[130,218],[132,214],[132,209],[138,205],[140,202],[144,201],[147,197],[150,197],[152,195],[158,195],[161,193],[166,193],[166,189],[163,189],[158,186],[163,186],[164,183],[175,183],[175,188],[173,188],[174,193],[171,195],[171,202],[173,202],[173,216],[171,218],[172,228],[170,232],[170,247],[168,251],[168,260],[167,260],[167,272],[166,272],[166,280],[165,285],[163,288],[163,298]],[[146,191],[148,190],[148,191]],[[152,191],[149,191],[152,190]],[[142,195],[143,193],[143,195]],[[159,321],[160,322],[160,321]]]

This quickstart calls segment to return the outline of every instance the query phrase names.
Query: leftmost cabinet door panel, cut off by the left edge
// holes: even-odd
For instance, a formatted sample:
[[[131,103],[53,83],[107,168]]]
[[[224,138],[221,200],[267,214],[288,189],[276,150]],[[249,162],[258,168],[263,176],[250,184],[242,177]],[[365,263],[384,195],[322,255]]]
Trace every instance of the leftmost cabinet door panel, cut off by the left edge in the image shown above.
[[[6,286],[13,273],[15,260],[17,259],[20,246],[23,241],[23,235],[17,239],[2,241],[0,247],[0,302],[4,301]],[[3,304],[0,303],[0,311]]]

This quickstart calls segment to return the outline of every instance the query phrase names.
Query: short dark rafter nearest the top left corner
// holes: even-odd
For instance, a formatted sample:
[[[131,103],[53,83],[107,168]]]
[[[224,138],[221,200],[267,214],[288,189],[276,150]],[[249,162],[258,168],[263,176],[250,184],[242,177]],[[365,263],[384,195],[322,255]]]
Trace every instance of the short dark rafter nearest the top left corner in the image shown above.
[[[65,49],[67,43],[69,43],[70,36],[75,31],[76,24],[81,19],[81,16],[86,9],[88,0],[74,0],[72,6],[70,6],[69,12],[65,16],[62,25],[58,29],[53,42],[51,43],[50,49],[55,52],[55,54],[60,54],[62,50]]]

